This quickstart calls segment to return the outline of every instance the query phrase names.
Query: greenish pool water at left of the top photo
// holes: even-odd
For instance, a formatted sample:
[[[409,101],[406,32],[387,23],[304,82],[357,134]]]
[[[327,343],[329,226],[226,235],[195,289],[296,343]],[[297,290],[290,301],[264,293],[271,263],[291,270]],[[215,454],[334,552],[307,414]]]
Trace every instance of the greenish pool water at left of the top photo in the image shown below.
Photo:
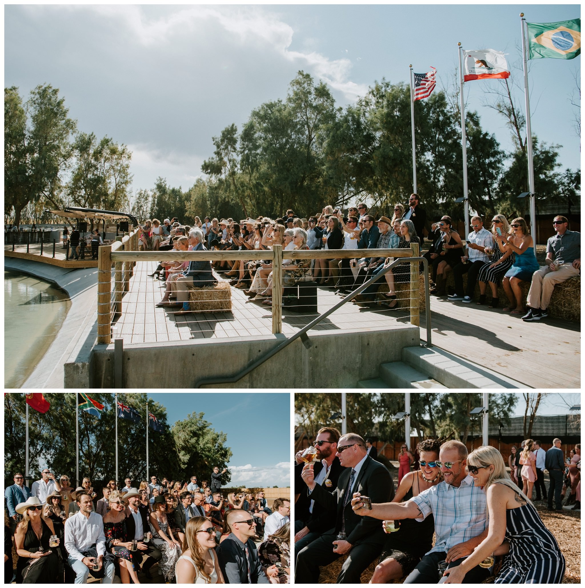
[[[4,272],[4,387],[19,388],[51,346],[71,306],[49,282]]]

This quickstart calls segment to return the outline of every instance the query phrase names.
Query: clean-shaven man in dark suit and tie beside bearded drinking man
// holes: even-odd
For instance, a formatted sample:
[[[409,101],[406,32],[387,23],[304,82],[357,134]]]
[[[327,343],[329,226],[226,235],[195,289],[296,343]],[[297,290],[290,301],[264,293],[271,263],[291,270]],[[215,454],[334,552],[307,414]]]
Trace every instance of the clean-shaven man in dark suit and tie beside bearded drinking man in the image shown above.
[[[305,466],[303,479],[311,499],[327,510],[336,509],[337,518],[334,529],[298,553],[295,582],[317,583],[319,566],[327,566],[348,554],[337,583],[359,584],[361,573],[380,555],[385,538],[380,521],[371,517],[360,520],[351,509],[351,497],[354,492],[360,492],[362,496],[370,497],[373,503],[388,502],[392,482],[388,470],[365,451],[365,441],[359,435],[348,433],[340,438],[337,456],[346,469],[333,492],[315,483],[313,468]]]

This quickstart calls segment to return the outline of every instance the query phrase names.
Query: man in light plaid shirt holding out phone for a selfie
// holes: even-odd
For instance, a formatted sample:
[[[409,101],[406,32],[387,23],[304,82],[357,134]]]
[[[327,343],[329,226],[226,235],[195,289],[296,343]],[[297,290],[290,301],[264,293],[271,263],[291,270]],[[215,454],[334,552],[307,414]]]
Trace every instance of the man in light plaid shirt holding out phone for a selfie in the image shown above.
[[[467,474],[467,447],[460,441],[447,441],[441,445],[439,461],[444,482],[424,490],[408,502],[372,505],[362,508],[360,497],[354,495],[352,506],[358,515],[374,519],[426,519],[435,520],[435,546],[404,580],[404,584],[437,584],[438,563],[446,560],[448,567],[458,566],[487,536],[486,495],[474,486]],[[480,566],[474,567],[464,583],[481,583],[490,573]]]

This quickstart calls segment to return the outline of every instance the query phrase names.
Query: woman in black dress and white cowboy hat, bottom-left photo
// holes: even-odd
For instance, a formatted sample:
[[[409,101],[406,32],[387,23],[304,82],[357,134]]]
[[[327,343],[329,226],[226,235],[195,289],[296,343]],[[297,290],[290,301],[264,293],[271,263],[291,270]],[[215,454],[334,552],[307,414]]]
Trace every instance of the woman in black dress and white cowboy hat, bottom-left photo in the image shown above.
[[[58,582],[59,556],[56,546],[49,546],[55,528],[51,519],[42,518],[44,506],[36,496],[29,496],[15,510],[22,515],[21,522],[16,526],[14,543],[18,562],[16,563],[17,584],[49,584]]]

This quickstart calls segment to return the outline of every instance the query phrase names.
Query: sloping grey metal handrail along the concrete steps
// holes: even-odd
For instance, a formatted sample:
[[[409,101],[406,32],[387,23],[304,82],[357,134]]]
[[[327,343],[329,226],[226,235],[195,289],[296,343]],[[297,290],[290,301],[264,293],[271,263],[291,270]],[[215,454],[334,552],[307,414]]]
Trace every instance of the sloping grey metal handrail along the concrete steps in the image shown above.
[[[407,261],[405,261],[405,259]],[[349,302],[351,299],[355,298],[358,294],[361,294],[368,286],[376,282],[386,273],[390,272],[394,266],[399,265],[400,263],[411,263],[411,262],[423,262],[424,267],[424,305],[425,305],[425,318],[427,323],[427,342],[425,347],[432,347],[433,343],[431,342],[431,302],[430,302],[430,294],[428,292],[428,261],[427,258],[424,257],[410,257],[410,258],[399,258],[395,259],[387,268],[384,268],[380,273],[370,278],[367,282],[364,282],[359,288],[342,298],[336,305],[332,306],[327,312],[324,312],[322,315],[319,315],[316,319],[312,320],[307,326],[304,326],[301,330],[297,331],[294,335],[290,336],[286,340],[284,340],[279,345],[272,348],[266,355],[262,358],[255,360],[254,363],[251,363],[247,368],[242,370],[235,376],[231,377],[206,377],[202,380],[198,380],[195,382],[194,387],[200,388],[201,386],[205,386],[208,384],[232,384],[234,382],[238,382],[241,380],[242,377],[247,375],[248,373],[252,372],[258,366],[261,366],[262,363],[270,359],[273,355],[276,355],[279,351],[290,345],[294,340],[298,339],[299,337],[305,342],[308,340],[306,335],[307,331],[313,329],[315,325],[321,322],[324,318],[327,318],[331,313],[335,312],[338,308],[341,308],[346,302]]]

